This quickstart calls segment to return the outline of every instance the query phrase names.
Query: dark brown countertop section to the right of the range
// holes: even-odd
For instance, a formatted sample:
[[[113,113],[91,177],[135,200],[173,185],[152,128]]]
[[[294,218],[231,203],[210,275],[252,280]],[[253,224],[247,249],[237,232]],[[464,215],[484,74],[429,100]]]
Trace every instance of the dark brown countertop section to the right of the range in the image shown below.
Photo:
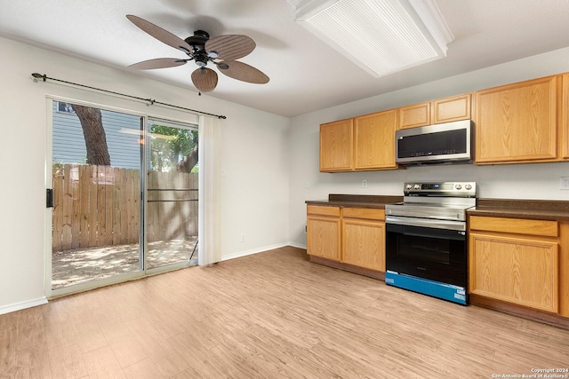
[[[569,201],[478,199],[477,206],[468,209],[467,214],[469,216],[569,221]]]

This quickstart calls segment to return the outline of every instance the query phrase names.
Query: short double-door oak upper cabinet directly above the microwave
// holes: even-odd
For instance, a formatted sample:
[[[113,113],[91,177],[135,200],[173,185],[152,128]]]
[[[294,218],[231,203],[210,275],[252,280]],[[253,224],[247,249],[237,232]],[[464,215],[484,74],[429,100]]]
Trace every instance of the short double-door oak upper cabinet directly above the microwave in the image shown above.
[[[399,129],[416,128],[435,123],[470,119],[472,96],[465,93],[445,99],[437,99],[409,107],[398,108]]]

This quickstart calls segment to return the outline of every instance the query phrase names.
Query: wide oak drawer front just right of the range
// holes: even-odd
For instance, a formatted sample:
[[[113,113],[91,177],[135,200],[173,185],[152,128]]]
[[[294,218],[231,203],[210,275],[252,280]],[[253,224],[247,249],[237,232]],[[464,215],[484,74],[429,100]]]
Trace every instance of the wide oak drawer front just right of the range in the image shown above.
[[[469,228],[488,232],[529,234],[543,237],[557,237],[559,235],[557,221],[525,220],[521,218],[471,216],[469,218]]]

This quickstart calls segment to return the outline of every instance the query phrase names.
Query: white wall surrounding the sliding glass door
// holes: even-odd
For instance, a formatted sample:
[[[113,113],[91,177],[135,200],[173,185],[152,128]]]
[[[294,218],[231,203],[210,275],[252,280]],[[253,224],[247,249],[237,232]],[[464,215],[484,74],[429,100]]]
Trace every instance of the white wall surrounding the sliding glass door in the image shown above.
[[[0,313],[44,300],[46,96],[182,121],[189,117],[55,83],[34,83],[34,72],[227,115],[222,122],[221,258],[288,242],[289,119],[4,38],[0,51]]]

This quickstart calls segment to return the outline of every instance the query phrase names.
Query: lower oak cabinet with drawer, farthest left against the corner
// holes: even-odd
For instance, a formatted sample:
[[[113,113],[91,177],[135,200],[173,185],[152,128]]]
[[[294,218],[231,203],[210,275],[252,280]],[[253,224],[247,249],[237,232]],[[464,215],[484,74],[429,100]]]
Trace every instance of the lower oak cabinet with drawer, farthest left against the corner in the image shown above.
[[[340,207],[309,205],[306,226],[309,255],[340,261]]]

